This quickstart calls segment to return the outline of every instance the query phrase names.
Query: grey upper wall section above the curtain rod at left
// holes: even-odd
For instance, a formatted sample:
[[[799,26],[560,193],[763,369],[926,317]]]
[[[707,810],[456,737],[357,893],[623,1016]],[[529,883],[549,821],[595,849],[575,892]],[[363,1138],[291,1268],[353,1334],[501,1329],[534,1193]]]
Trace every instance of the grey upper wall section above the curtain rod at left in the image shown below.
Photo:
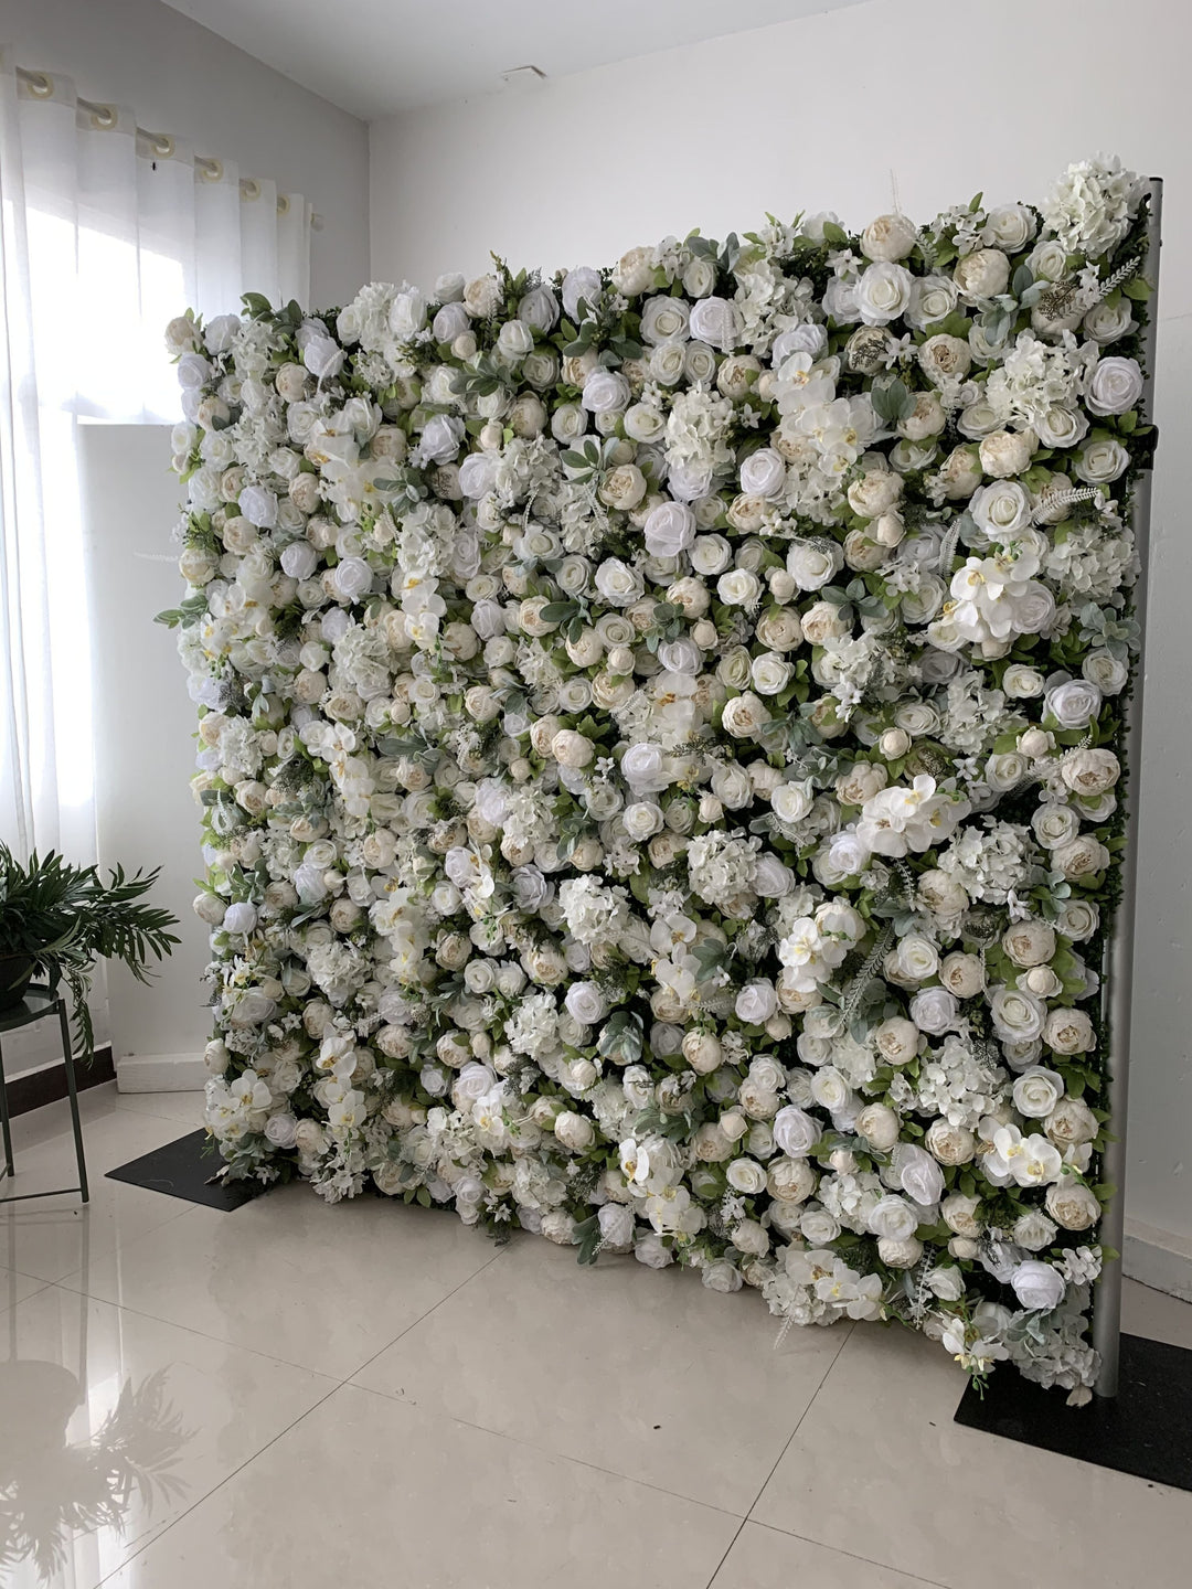
[[[367,278],[369,146],[354,116],[159,0],[6,0],[0,37],[22,67],[65,73],[141,127],[310,199],[324,222],[312,307],[342,303]]]

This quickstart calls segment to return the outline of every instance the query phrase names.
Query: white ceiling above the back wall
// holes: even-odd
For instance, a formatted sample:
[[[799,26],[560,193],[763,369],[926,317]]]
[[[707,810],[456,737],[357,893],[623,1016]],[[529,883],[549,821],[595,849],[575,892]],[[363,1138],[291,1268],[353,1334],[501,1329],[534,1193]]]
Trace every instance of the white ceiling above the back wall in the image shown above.
[[[548,78],[650,56],[861,0],[167,0],[232,44],[370,119],[510,92],[502,72]],[[515,92],[515,91],[513,91]]]

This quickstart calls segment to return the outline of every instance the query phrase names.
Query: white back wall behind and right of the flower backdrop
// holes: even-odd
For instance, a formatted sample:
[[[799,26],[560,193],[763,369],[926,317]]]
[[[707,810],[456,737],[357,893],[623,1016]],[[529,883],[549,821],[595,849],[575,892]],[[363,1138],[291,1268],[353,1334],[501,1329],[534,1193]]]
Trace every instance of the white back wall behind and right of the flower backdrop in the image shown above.
[[[1182,0],[874,0],[375,122],[370,194],[372,276],[431,286],[480,272],[490,248],[556,267],[693,226],[723,237],[766,210],[861,226],[892,207],[892,172],[923,219],[977,189],[1038,199],[1101,149],[1167,178],[1127,1208],[1187,1252],[1190,49]]]

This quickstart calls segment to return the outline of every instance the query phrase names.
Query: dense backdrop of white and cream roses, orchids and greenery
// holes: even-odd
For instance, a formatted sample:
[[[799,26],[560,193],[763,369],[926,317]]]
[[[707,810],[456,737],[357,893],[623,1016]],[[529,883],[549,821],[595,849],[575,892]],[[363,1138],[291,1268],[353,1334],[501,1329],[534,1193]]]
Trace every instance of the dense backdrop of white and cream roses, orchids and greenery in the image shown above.
[[[1087,1394],[1144,222],[170,326],[227,1174]]]

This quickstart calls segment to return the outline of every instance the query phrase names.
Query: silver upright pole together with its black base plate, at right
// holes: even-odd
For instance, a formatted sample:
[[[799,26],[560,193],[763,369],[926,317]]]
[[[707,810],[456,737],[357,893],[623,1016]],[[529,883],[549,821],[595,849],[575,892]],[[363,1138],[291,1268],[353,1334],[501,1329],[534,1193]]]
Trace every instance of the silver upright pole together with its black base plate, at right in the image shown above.
[[[1151,178],[1146,276],[1159,286],[1159,243],[1163,183]],[[1144,329],[1144,408],[1154,415],[1157,292],[1147,302]],[[1140,628],[1132,694],[1125,706],[1125,771],[1130,779],[1122,856],[1122,899],[1106,952],[1101,984],[1108,1108],[1113,1138],[1101,1155],[1101,1181],[1114,1189],[1098,1241],[1120,1254],[1125,1222],[1125,1127],[1133,1004],[1135,906],[1138,888],[1138,806],[1143,766],[1143,688],[1146,683],[1146,594],[1151,551],[1151,470],[1135,483],[1132,526],[1140,577],[1133,615]],[[1062,1390],[1044,1390],[1014,1373],[995,1373],[984,1398],[966,1390],[957,1424],[1017,1440],[1044,1451],[1079,1457],[1155,1484],[1192,1490],[1192,1351],[1122,1335],[1122,1258],[1106,1262],[1093,1292],[1093,1346],[1100,1370],[1087,1406],[1066,1408]]]

